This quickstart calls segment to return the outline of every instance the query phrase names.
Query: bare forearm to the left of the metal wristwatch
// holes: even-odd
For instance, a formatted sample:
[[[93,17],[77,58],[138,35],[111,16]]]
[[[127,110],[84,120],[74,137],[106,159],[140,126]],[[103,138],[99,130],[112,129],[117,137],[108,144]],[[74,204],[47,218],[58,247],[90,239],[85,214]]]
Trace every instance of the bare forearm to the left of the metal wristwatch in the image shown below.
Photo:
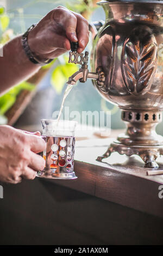
[[[0,57],[0,93],[26,80],[39,69],[39,65],[30,62],[22,48],[21,36],[17,36],[4,45],[3,57]]]

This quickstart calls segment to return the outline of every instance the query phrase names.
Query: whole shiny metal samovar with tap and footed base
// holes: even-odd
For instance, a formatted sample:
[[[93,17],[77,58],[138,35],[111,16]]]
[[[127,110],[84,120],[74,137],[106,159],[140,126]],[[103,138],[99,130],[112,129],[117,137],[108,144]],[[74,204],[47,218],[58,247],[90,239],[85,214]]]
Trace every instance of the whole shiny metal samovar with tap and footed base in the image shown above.
[[[114,151],[139,155],[145,167],[158,167],[163,155],[163,137],[155,127],[162,120],[163,108],[163,1],[101,1],[105,22],[90,26],[95,38],[91,53],[70,53],[69,62],[82,64],[67,83],[91,78],[105,100],[122,109],[127,124],[125,134],[111,143],[98,161]]]

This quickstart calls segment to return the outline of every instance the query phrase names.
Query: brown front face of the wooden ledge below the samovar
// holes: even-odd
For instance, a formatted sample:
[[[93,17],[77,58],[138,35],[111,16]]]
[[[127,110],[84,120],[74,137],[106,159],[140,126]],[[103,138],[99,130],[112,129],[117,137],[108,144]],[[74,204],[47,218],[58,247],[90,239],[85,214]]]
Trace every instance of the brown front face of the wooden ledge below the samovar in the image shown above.
[[[74,170],[76,180],[40,180],[163,217],[163,199],[158,197],[161,182],[81,161],[74,162]]]

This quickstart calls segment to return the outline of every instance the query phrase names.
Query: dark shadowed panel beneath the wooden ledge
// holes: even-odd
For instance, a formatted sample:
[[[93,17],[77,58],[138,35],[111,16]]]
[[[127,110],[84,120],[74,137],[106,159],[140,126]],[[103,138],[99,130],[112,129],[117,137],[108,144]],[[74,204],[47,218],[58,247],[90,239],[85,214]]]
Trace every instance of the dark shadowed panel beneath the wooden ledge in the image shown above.
[[[35,179],[4,185],[0,243],[162,244],[163,219]]]

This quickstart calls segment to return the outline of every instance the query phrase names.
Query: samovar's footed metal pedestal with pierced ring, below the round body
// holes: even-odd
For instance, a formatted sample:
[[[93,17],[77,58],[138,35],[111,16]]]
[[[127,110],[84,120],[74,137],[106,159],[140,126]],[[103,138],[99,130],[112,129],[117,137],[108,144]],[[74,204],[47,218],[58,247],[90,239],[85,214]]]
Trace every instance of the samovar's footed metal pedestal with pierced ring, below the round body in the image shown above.
[[[122,120],[127,123],[125,134],[119,135],[108,150],[97,161],[118,152],[127,156],[139,155],[145,167],[158,168],[156,158],[163,155],[163,137],[155,132],[155,126],[162,120],[160,111],[122,110]]]

